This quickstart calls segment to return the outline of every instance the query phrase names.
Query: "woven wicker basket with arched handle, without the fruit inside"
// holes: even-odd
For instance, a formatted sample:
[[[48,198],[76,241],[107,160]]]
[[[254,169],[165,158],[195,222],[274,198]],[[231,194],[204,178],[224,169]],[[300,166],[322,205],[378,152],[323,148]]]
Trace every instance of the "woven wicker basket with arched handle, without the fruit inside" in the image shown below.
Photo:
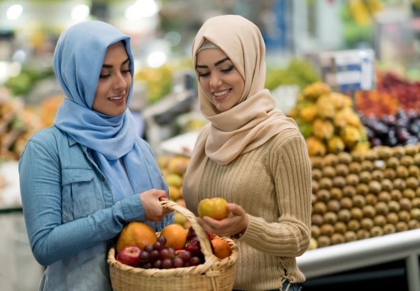
[[[114,291],[232,290],[238,253],[233,240],[222,237],[231,246],[232,253],[228,258],[220,260],[213,255],[207,233],[198,224],[196,216],[191,211],[171,201],[163,201],[161,204],[165,208],[183,214],[191,223],[200,240],[201,251],[205,255],[205,263],[198,266],[170,269],[133,268],[116,260],[113,247],[108,253],[108,263]]]

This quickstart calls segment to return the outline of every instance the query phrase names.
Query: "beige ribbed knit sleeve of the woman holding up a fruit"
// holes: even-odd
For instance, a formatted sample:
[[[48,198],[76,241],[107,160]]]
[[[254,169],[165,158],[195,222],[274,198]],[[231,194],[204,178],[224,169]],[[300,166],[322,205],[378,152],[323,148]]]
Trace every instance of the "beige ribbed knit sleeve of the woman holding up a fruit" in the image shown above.
[[[248,214],[248,227],[241,237],[254,249],[283,257],[302,255],[311,238],[311,161],[299,133],[271,143],[267,165],[274,178],[280,216],[274,223]]]

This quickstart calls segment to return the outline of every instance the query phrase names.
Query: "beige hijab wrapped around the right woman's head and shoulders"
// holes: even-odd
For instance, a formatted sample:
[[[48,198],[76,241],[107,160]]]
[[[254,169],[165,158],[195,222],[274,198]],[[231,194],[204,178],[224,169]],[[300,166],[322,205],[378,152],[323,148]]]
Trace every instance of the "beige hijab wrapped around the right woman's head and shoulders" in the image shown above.
[[[195,213],[198,186],[207,158],[227,165],[239,154],[261,146],[280,131],[298,128],[293,119],[274,108],[274,99],[264,89],[265,44],[254,23],[237,15],[209,18],[194,38],[194,70],[197,51],[205,40],[218,46],[231,59],[244,78],[245,86],[238,104],[220,113],[211,103],[211,96],[198,85],[200,111],[210,123],[198,135],[183,184],[187,208]]]

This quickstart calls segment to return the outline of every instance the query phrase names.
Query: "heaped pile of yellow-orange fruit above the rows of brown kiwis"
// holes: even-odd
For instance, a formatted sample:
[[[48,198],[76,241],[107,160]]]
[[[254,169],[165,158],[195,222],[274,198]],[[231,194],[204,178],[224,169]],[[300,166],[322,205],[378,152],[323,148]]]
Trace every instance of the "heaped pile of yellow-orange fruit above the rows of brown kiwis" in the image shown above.
[[[306,139],[310,156],[363,152],[370,148],[350,96],[332,92],[326,83],[306,87],[289,115]]]

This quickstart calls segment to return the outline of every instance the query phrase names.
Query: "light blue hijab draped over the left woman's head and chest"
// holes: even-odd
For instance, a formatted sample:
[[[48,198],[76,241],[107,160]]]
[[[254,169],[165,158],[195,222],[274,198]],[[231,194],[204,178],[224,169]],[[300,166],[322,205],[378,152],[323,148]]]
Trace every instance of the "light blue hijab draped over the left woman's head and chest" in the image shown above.
[[[66,94],[54,124],[93,151],[94,160],[111,187],[114,202],[152,188],[166,189],[155,156],[135,134],[134,119],[127,108],[133,82],[122,115],[113,117],[92,109],[107,47],[120,41],[129,56],[133,80],[129,36],[101,21],[78,23],[64,31],[53,60],[55,76]]]

